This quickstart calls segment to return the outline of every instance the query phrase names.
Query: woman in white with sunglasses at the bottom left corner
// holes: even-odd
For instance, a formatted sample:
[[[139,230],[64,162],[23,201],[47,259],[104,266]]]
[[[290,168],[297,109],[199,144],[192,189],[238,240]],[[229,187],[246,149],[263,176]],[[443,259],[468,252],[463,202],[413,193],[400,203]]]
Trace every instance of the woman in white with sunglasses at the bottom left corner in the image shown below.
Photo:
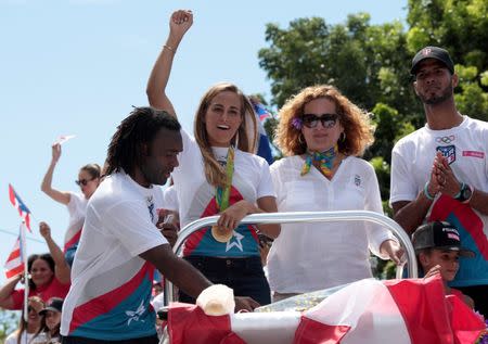
[[[39,311],[44,307],[44,302],[38,296],[28,298],[27,304],[27,321],[24,319],[24,308],[22,308],[21,319],[18,320],[18,328],[12,332],[4,344],[29,344],[33,337],[41,327],[42,316]]]

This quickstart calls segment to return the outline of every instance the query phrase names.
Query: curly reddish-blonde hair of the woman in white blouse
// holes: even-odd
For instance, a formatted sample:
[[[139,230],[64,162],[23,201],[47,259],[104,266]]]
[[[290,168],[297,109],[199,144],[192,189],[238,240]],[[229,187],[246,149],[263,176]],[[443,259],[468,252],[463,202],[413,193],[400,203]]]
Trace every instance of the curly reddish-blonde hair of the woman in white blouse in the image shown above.
[[[374,141],[374,127],[370,116],[330,85],[307,87],[286,101],[279,112],[280,124],[274,139],[277,145],[287,156],[307,152],[304,135],[301,130],[292,125],[292,120],[304,115],[304,107],[307,103],[320,98],[329,99],[335,104],[336,113],[344,128],[346,138],[337,142],[338,151],[344,155],[361,156]]]

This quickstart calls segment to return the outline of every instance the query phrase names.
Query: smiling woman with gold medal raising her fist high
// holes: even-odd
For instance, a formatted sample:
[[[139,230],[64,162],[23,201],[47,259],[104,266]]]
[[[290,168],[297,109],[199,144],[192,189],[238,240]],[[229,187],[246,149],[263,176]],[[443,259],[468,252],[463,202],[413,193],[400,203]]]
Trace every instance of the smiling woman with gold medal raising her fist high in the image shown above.
[[[191,11],[171,15],[168,39],[147,82],[150,104],[174,116],[166,85],[177,48],[192,23]],[[190,235],[184,258],[211,282],[232,288],[236,296],[269,304],[256,226],[239,225],[248,214],[277,211],[268,163],[253,154],[257,127],[252,104],[234,85],[215,85],[200,102],[194,138],[181,131],[183,152],[172,173],[181,226],[220,214],[217,226]],[[257,228],[271,238],[280,232],[278,225]],[[182,293],[180,301],[194,302]]]

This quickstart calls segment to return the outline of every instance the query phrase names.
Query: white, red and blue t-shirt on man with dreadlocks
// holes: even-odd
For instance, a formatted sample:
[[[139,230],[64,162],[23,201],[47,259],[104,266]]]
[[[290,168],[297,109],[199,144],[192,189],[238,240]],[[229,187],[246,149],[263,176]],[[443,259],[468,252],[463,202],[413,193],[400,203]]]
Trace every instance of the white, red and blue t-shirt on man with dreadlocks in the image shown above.
[[[63,305],[61,333],[105,341],[155,334],[154,267],[139,255],[168,243],[155,227],[160,188],[113,174],[91,196]]]

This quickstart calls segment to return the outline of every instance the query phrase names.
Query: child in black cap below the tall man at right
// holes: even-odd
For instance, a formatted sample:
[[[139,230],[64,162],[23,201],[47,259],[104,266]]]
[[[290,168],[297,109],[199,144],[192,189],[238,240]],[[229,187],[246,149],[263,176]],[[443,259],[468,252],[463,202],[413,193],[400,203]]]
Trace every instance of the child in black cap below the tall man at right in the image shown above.
[[[412,237],[413,247],[418,256],[421,272],[425,277],[440,273],[446,295],[457,295],[466,305],[474,308],[474,301],[461,291],[450,288],[459,270],[459,257],[472,258],[475,253],[461,246],[458,229],[446,221],[433,221],[420,226]]]

